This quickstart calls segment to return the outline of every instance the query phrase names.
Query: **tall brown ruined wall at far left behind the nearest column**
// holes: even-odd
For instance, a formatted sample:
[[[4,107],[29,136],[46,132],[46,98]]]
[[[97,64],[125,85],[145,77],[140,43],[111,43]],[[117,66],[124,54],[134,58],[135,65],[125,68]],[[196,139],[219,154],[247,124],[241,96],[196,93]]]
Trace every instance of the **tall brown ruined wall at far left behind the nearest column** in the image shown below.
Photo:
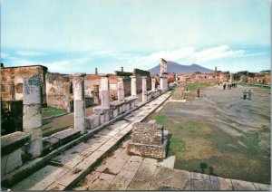
[[[1,68],[1,97],[3,101],[22,101],[24,78],[36,76],[42,83],[42,103],[46,103],[45,74],[47,67],[30,65]]]

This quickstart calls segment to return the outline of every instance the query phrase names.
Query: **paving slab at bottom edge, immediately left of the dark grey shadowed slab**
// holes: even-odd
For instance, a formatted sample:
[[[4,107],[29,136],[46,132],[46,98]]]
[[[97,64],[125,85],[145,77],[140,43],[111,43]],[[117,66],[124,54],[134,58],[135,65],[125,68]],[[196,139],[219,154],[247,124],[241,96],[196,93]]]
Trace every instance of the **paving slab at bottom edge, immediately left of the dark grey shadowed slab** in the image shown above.
[[[190,173],[189,171],[174,169],[171,180],[171,187],[175,189],[190,189]]]

